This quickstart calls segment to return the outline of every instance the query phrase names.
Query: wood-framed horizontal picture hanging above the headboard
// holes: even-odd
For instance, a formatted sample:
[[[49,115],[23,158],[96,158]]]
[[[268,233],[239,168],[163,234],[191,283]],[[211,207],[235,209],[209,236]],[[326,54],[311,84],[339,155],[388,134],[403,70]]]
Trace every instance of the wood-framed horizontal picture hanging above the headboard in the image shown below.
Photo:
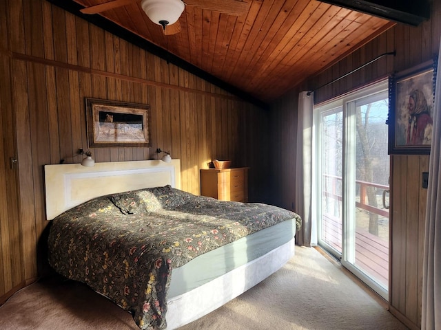
[[[85,98],[88,146],[150,146],[149,105]]]

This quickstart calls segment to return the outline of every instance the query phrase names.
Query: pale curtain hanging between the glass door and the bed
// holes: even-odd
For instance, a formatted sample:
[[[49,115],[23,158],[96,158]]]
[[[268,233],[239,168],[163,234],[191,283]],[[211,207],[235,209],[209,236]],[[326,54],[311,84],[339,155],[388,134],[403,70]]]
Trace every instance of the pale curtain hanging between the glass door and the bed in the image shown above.
[[[315,198],[314,165],[314,94],[307,91],[298,96],[296,213],[302,217],[302,228],[296,234],[299,245],[317,245],[317,221],[311,201]]]

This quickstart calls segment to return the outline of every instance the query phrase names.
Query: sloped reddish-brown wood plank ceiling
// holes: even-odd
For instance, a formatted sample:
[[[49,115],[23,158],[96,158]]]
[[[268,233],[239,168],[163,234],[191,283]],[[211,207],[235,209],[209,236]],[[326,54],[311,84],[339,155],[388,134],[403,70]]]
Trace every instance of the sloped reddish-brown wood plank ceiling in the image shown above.
[[[109,0],[74,1],[90,7]],[[169,36],[139,1],[101,16],[265,103],[395,24],[316,0],[246,1],[239,17],[186,5],[181,32]]]

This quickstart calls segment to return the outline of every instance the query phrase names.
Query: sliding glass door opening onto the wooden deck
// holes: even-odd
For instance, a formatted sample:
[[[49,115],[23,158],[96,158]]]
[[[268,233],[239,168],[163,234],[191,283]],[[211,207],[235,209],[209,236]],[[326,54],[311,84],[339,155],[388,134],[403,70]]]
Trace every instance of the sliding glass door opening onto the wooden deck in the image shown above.
[[[317,111],[319,244],[387,299],[387,83]]]

